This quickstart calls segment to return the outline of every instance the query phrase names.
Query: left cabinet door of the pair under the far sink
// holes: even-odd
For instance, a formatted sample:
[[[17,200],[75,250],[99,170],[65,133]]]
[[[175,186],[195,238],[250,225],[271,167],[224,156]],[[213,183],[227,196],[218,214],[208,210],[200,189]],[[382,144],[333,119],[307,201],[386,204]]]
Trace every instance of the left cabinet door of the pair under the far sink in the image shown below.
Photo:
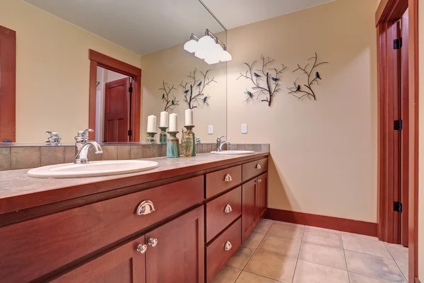
[[[257,226],[257,180],[242,185],[242,241],[245,241]]]

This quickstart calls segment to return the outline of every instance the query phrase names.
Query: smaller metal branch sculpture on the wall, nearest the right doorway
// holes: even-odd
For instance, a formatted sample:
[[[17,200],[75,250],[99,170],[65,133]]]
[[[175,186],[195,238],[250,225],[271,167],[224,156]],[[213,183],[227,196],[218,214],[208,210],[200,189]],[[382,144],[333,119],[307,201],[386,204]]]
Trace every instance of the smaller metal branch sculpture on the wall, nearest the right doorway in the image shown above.
[[[304,98],[305,96],[307,98],[309,98],[310,100],[312,100],[312,98],[314,98],[314,100],[317,100],[317,96],[314,92],[314,90],[312,89],[312,86],[314,85],[314,83],[318,83],[318,80],[321,80],[321,76],[319,75],[319,71],[316,71],[315,69],[322,64],[329,64],[329,62],[320,62],[318,63],[318,56],[317,56],[317,52],[315,52],[315,56],[314,57],[310,57],[310,59],[307,59],[308,61],[314,60],[314,64],[312,65],[311,69],[308,71],[307,67],[310,65],[310,63],[307,63],[305,67],[300,67],[300,65],[298,64],[298,69],[295,69],[295,71],[303,71],[303,74],[305,74],[307,76],[307,83],[303,84],[303,86],[305,86],[305,88],[302,88],[302,86],[300,86],[300,84],[298,84],[298,79],[296,79],[296,81],[293,83],[294,86],[292,86],[291,88],[287,88],[291,93],[293,94],[293,96],[295,96],[298,99]],[[295,72],[293,71],[293,73]],[[315,75],[314,75],[314,79],[311,78],[312,73],[314,73],[315,71]]]

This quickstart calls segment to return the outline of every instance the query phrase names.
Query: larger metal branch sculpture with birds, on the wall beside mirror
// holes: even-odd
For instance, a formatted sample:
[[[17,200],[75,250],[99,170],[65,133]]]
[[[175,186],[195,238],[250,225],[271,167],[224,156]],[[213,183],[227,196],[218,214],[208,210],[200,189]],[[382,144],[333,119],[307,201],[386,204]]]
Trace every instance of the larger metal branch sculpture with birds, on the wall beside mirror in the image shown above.
[[[268,68],[269,64],[274,62],[274,59],[271,59],[270,57],[264,57],[261,55],[261,61],[262,61],[262,68],[258,69],[257,72],[253,71],[254,64],[257,63],[257,60],[255,60],[252,64],[247,64],[247,71],[246,74],[240,73],[240,76],[237,79],[245,78],[249,81],[252,81],[253,87],[252,91],[246,90],[245,93],[247,95],[247,98],[245,102],[248,102],[249,100],[260,100],[261,102],[268,103],[268,106],[271,106],[272,99],[278,93],[278,91],[281,91],[280,87],[280,76],[283,73],[287,67],[284,66],[284,64],[281,64],[281,69],[277,68]],[[269,71],[275,72],[275,75],[269,73]],[[264,86],[262,86],[265,83]]]

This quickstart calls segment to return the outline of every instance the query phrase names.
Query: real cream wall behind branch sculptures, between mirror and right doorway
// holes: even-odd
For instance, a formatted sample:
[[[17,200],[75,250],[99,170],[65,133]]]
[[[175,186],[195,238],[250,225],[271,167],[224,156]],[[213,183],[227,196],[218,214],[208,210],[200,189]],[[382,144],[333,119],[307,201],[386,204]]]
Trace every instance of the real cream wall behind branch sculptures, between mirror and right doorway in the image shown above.
[[[377,221],[376,7],[338,0],[228,30],[228,139],[271,144],[269,207]],[[285,87],[314,52],[330,64],[317,101],[298,100]],[[270,108],[242,103],[251,84],[237,80],[261,54],[289,67]]]

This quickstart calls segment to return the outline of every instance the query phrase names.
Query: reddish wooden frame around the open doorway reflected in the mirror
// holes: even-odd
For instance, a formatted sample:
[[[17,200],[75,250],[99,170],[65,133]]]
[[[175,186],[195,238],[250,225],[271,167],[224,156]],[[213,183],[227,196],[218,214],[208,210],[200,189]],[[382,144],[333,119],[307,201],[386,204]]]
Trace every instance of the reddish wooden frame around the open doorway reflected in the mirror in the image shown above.
[[[129,141],[140,141],[140,117],[141,117],[141,69],[125,62],[119,61],[95,50],[89,50],[90,59],[90,91],[88,106],[88,127],[96,131],[96,88],[97,88],[97,67],[102,67],[117,73],[131,76],[133,79],[133,96],[131,100],[131,132]],[[95,133],[90,133],[90,138],[94,139]]]

